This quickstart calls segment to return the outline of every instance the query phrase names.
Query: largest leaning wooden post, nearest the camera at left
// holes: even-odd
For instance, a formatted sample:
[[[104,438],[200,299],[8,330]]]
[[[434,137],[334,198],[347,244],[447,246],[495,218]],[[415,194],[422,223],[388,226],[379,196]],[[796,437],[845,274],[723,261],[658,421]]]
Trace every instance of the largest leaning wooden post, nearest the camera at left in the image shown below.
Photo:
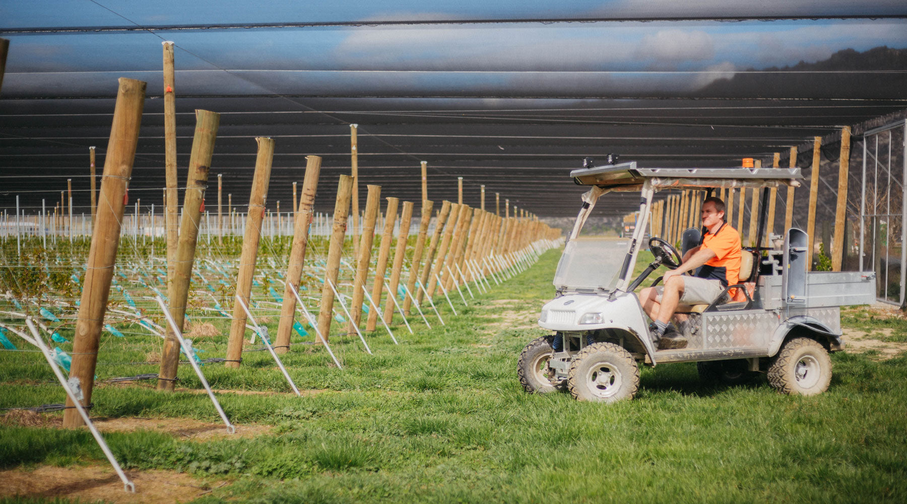
[[[73,337],[73,363],[70,380],[77,381],[82,388],[83,405],[92,402],[94,369],[98,360],[98,346],[107,310],[107,298],[111,291],[113,265],[116,263],[117,247],[120,244],[120,223],[126,207],[123,197],[129,188],[132,176],[132,162],[139,142],[141,111],[145,100],[145,82],[120,79],[116,105],[113,109],[110,142],[104,156],[104,170],[101,179],[102,206],[98,222],[92,231],[92,246],[85,265],[82,300],[75,322]],[[66,404],[73,406],[67,399]],[[63,412],[63,427],[83,425],[82,417],[74,408]]]

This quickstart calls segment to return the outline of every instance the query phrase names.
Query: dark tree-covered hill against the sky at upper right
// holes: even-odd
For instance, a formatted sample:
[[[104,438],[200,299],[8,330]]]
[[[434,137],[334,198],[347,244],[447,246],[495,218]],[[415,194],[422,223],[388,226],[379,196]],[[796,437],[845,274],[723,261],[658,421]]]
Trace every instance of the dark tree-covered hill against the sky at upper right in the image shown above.
[[[759,69],[748,69],[757,71]],[[718,79],[693,92],[697,97],[759,98],[907,98],[907,73],[860,73],[860,71],[907,71],[907,49],[874,47],[860,53],[844,49],[827,60],[796,63],[772,71],[844,71],[856,73],[737,73],[730,79]]]

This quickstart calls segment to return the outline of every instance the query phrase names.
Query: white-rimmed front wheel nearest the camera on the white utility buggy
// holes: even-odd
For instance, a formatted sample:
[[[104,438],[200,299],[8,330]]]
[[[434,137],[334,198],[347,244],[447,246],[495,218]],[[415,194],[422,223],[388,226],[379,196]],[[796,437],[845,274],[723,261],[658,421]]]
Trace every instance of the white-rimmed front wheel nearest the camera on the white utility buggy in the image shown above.
[[[639,390],[639,366],[617,344],[590,344],[574,356],[567,373],[567,387],[578,401],[632,399]]]

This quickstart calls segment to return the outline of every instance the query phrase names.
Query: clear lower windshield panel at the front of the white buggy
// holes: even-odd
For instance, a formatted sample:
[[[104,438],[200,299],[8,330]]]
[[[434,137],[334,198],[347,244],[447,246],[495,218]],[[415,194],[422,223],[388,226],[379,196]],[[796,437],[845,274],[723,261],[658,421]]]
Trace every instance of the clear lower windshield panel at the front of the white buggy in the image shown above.
[[[627,255],[629,237],[576,237],[567,242],[554,274],[560,291],[611,291]]]

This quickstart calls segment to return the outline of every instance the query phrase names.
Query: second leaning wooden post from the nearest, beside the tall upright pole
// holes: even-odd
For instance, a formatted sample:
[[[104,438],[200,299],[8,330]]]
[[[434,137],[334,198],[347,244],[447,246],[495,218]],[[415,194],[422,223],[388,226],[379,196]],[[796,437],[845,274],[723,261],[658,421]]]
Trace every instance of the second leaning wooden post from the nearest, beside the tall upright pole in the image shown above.
[[[180,241],[173,260],[173,279],[167,285],[170,312],[177,326],[182,330],[186,316],[186,300],[189,298],[189,282],[192,276],[192,261],[199,237],[201,201],[208,189],[208,173],[214,141],[218,136],[220,114],[212,111],[195,111],[195,137],[189,158],[189,173],[186,178],[186,193],[182,199],[180,219]],[[168,197],[168,200],[170,198]],[[180,364],[180,340],[168,326],[161,352],[161,371],[158,372],[158,390],[172,391],[176,384],[177,367]]]

